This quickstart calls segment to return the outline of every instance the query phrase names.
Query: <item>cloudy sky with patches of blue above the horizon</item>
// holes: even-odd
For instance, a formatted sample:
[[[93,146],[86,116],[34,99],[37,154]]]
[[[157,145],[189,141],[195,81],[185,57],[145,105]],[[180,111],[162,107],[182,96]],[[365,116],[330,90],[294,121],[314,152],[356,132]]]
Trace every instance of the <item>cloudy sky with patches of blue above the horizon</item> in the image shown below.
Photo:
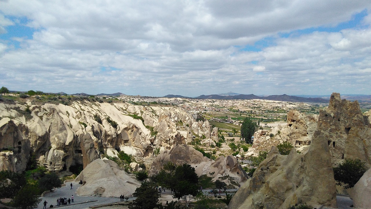
[[[0,86],[371,94],[370,0],[0,0]]]

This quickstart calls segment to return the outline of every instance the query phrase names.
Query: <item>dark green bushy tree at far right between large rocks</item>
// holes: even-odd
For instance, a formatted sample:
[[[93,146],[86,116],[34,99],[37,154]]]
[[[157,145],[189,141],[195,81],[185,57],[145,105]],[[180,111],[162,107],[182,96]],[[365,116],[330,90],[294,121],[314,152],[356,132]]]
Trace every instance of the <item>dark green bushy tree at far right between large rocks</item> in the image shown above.
[[[352,188],[361,179],[366,170],[365,163],[361,160],[345,159],[344,163],[334,168],[336,184],[345,184],[345,189]]]

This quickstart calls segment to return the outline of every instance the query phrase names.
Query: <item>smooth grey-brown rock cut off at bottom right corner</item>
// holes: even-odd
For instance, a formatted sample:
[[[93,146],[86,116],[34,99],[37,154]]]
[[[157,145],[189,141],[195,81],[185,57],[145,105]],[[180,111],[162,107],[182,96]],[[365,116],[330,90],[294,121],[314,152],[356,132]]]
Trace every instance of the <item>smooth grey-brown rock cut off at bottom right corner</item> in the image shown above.
[[[354,185],[350,193],[355,209],[371,208],[371,168]]]

